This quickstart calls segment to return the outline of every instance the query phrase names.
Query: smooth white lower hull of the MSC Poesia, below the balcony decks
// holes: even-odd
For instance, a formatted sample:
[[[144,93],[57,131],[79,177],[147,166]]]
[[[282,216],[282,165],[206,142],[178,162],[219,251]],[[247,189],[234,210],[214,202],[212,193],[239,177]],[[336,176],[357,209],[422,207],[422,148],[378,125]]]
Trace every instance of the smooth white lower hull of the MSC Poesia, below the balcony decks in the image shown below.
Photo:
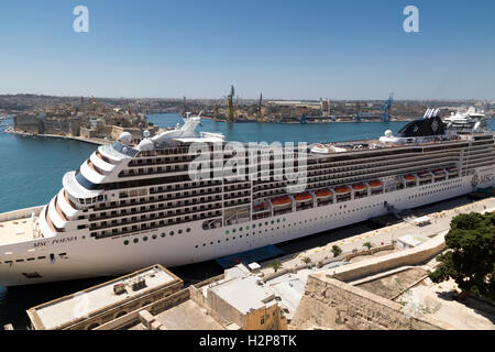
[[[485,167],[484,173],[491,174],[493,179],[495,167]],[[202,230],[200,220],[187,226],[178,224],[108,239],[96,240],[89,237],[89,231],[86,235],[77,231],[77,234],[69,232],[51,239],[2,245],[0,285],[15,286],[119,275],[156,263],[168,267],[199,263],[382,216],[388,212],[384,202],[400,210],[465,195],[474,189],[471,182],[471,176],[457,177],[213,230]],[[492,185],[493,180],[488,180],[479,187]],[[260,227],[260,223],[263,226]],[[255,229],[253,224],[257,224]],[[190,231],[178,234],[178,230],[186,227],[190,228]],[[239,231],[241,227],[243,230]],[[248,227],[250,230],[246,230]],[[232,239],[233,229],[238,230],[235,240]],[[226,235],[226,230],[230,230],[229,235]],[[175,231],[175,235],[168,235],[170,231]],[[167,233],[164,238],[161,237],[163,232]],[[153,239],[154,234],[156,239]],[[147,241],[143,241],[144,237]],[[227,237],[231,239],[228,242],[224,241]],[[139,243],[133,243],[134,239],[139,239]],[[128,245],[123,243],[125,240],[130,242]],[[220,244],[218,240],[221,240]],[[329,242],[331,240],[329,237]],[[65,254],[64,257],[61,257],[61,253]],[[37,260],[40,256],[46,258]],[[28,261],[28,257],[36,260]],[[16,262],[20,258],[23,261]],[[13,263],[4,264],[9,260]],[[40,277],[25,276],[32,273]]]

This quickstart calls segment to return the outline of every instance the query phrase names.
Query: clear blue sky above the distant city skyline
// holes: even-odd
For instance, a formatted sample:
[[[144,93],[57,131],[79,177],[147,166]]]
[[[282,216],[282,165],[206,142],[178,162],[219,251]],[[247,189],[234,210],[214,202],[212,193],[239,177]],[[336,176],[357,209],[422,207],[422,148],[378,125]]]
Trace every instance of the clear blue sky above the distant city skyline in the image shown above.
[[[0,94],[495,99],[494,16],[493,0],[1,0]]]

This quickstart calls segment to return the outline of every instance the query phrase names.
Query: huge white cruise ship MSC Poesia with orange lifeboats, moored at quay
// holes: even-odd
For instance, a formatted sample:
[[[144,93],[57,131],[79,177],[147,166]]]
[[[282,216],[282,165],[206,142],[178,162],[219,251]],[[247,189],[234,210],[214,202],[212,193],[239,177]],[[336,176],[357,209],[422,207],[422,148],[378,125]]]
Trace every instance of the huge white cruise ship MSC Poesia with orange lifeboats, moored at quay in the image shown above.
[[[124,132],[66,173],[47,205],[0,215],[0,285],[200,263],[495,180],[494,133],[452,128],[438,111],[396,135],[296,147],[231,143],[199,123]]]

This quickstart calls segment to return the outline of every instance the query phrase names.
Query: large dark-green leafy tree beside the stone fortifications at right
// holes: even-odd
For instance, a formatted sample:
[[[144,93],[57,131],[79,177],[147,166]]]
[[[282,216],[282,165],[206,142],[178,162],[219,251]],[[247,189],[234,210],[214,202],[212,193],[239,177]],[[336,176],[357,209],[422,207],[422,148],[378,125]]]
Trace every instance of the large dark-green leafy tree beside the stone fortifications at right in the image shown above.
[[[468,294],[495,299],[495,213],[471,212],[452,219],[446,234],[448,252],[437,256],[441,264],[429,274],[433,283],[452,278]]]

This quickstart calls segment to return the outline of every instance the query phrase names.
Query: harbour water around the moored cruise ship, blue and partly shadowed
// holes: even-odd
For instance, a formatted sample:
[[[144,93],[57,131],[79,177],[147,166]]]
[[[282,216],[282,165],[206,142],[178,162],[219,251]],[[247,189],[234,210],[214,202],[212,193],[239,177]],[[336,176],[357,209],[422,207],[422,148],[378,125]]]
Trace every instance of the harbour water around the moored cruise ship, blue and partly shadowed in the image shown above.
[[[182,122],[173,113],[151,114],[148,121],[160,127],[175,127]],[[385,130],[397,132],[406,123],[228,124],[204,119],[201,130],[223,133],[228,141],[315,143],[377,138]],[[488,125],[495,130],[495,120],[488,121]],[[62,188],[64,173],[77,169],[96,147],[70,140],[22,138],[0,132],[0,212],[48,202]],[[212,270],[211,265],[201,265],[193,268],[193,272],[195,276],[201,277],[208,276],[206,271]],[[182,273],[191,273],[191,270],[178,268],[175,273],[180,276]],[[9,289],[0,287],[0,329],[8,322],[13,322],[16,329],[25,329],[29,324],[25,309],[105,279],[108,278]]]

